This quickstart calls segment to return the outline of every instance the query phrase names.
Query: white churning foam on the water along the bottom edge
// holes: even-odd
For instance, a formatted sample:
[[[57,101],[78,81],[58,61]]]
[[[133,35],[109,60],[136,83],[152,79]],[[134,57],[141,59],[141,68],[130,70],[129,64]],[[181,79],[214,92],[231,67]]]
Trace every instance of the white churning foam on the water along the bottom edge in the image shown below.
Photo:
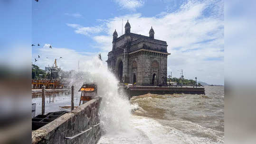
[[[134,133],[103,135],[98,144],[223,144],[222,140],[213,142],[207,137],[198,137],[171,126],[163,126],[159,121],[149,117],[132,116],[131,120]],[[201,127],[191,123],[190,125],[190,128],[195,126],[192,128],[195,131]],[[192,130],[190,128],[188,131]],[[201,127],[198,131],[204,131],[202,129],[204,128]],[[207,129],[206,131],[211,133]]]

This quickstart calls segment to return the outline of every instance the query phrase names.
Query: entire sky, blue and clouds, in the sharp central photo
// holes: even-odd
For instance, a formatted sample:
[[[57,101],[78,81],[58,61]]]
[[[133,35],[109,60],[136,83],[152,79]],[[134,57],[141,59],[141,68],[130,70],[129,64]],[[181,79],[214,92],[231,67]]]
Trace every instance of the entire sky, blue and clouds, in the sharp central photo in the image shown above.
[[[121,36],[122,20],[124,33],[129,19],[132,33],[148,36],[153,27],[155,39],[167,42],[168,75],[178,78],[182,69],[186,79],[224,84],[224,0],[32,0],[31,4],[31,38],[36,45],[31,61],[41,69],[54,59],[66,71],[77,70],[78,61],[98,54],[106,61],[114,30]]]

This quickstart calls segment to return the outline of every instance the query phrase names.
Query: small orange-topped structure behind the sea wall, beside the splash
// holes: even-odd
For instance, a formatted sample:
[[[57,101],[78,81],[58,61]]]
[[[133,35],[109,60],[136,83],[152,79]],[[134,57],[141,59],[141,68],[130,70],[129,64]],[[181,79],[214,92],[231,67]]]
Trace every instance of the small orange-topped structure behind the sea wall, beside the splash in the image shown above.
[[[97,95],[97,85],[93,83],[84,83],[80,88],[80,90],[78,91],[82,91],[80,102],[79,102],[79,106],[80,106],[81,101],[83,101],[83,104],[84,104],[85,101],[89,101]]]

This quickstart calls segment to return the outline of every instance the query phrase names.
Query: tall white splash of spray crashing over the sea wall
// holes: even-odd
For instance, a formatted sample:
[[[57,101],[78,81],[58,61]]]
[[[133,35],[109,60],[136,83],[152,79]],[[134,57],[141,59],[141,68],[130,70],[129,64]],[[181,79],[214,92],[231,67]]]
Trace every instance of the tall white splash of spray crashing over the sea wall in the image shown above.
[[[80,61],[80,71],[73,75],[71,84],[76,92],[86,83],[95,83],[98,86],[98,96],[102,97],[99,114],[103,130],[106,133],[130,131],[131,105],[127,97],[118,93],[118,81],[114,74],[97,57],[90,61]],[[76,98],[80,93],[76,93]]]

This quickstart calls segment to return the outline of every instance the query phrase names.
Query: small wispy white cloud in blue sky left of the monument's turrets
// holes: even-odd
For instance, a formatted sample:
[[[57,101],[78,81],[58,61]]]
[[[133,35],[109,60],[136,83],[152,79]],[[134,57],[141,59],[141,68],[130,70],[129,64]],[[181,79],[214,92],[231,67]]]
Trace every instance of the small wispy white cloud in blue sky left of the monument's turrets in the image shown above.
[[[75,32],[76,34],[82,34],[86,36],[90,36],[92,34],[97,34],[103,31],[102,26],[96,26],[96,27],[82,27],[78,24],[66,24],[68,27],[76,28]]]

